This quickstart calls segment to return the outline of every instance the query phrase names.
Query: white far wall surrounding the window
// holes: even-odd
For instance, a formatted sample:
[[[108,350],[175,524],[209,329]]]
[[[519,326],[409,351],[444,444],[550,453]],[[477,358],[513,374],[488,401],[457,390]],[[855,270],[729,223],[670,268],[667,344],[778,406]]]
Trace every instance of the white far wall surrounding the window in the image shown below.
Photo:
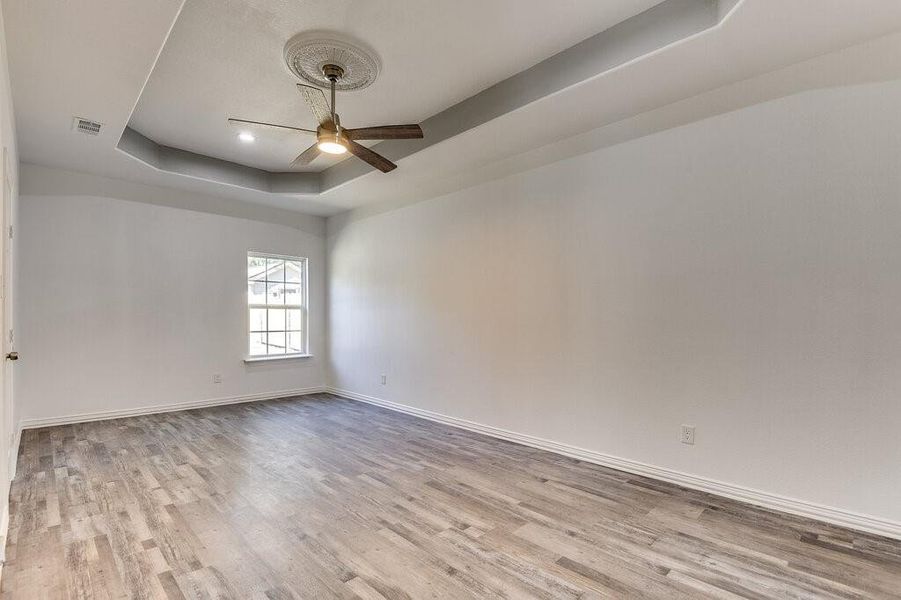
[[[301,230],[159,206],[148,197],[181,192],[30,165],[22,182],[16,402],[26,423],[324,384],[322,219]],[[243,362],[248,250],[309,258],[314,358]]]

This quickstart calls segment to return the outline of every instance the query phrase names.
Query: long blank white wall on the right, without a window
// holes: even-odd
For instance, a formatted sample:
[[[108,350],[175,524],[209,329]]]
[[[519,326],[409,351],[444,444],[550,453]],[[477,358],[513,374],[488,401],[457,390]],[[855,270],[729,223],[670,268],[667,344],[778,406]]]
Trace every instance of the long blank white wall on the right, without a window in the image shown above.
[[[901,523],[899,106],[818,90],[332,218],[332,382]]]

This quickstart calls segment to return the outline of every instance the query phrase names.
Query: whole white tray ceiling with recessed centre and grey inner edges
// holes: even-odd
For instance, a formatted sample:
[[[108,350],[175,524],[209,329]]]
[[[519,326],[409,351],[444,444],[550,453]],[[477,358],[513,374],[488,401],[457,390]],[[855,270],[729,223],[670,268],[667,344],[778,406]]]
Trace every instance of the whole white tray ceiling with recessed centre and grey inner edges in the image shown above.
[[[194,192],[214,212],[378,210],[771,98],[901,77],[897,0],[2,2],[24,163],[152,184],[145,201],[182,202],[159,186]],[[297,141],[243,146],[224,125],[237,112],[307,118],[281,52],[316,29],[383,63],[340,104],[347,124],[424,120],[422,143],[379,144],[392,173],[352,160],[270,173]],[[73,131],[73,116],[99,135]],[[45,180],[23,193],[50,193],[35,187]]]

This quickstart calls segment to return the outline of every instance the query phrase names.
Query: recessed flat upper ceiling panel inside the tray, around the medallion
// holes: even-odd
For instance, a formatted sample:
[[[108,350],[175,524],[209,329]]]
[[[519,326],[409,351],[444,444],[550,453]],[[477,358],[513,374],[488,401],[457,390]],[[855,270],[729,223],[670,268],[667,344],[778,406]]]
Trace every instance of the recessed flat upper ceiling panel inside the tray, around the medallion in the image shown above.
[[[381,59],[371,87],[339,94],[347,127],[419,122],[660,0],[187,0],[131,118],[158,144],[268,171],[311,140],[258,134],[226,118],[314,128],[284,63],[285,42],[323,31]],[[321,157],[298,170],[319,171]]]

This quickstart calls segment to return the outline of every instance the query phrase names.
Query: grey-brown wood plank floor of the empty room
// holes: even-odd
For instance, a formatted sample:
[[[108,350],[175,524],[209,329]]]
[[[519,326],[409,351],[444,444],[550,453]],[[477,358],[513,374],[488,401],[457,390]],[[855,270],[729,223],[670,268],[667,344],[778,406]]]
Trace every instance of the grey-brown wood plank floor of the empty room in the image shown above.
[[[899,598],[901,542],[334,396],[26,431],[2,598]]]

